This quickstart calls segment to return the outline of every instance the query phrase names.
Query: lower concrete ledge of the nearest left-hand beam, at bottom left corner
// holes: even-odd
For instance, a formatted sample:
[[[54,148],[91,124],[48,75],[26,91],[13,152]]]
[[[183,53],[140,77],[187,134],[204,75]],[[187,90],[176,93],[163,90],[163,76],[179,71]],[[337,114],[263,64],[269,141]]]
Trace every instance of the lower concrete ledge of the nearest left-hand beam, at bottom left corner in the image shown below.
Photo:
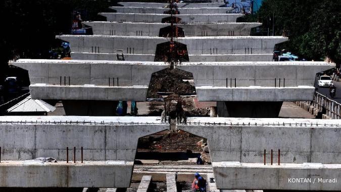
[[[129,187],[134,162],[0,163],[0,187]]]

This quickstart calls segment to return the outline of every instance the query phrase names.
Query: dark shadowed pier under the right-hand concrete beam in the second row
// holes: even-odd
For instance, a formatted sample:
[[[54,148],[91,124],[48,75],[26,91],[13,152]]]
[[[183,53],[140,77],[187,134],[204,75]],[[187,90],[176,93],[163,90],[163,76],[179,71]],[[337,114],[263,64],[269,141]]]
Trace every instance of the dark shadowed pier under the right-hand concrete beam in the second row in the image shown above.
[[[218,117],[278,118],[283,101],[217,101]]]

